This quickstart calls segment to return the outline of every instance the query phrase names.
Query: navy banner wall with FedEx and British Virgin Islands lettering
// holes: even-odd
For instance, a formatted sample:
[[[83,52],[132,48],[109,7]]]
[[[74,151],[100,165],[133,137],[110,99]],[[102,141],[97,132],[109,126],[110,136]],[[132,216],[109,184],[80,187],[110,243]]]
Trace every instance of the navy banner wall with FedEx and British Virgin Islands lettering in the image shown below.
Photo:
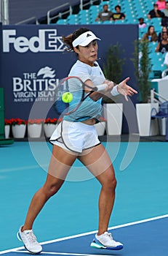
[[[68,76],[76,61],[75,53],[65,53],[62,36],[71,34],[80,26],[2,26],[1,29],[1,87],[5,94],[5,117],[28,119],[36,102],[39,108],[34,118],[55,117],[54,92],[61,78]],[[124,49],[123,78],[134,80],[134,67],[130,58],[134,52],[133,42],[137,39],[137,25],[88,25],[97,37],[100,66],[103,67],[105,55],[111,44],[119,42]],[[129,37],[124,34],[129,34]],[[109,36],[110,35],[110,36]]]

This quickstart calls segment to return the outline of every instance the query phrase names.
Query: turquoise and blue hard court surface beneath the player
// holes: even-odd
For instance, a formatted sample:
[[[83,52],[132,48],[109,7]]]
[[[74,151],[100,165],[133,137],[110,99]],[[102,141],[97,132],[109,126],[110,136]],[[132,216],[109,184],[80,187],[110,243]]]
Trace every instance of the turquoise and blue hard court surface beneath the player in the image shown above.
[[[0,254],[27,253],[16,233],[31,197],[47,176],[52,146],[45,144],[48,151],[44,142],[0,147]],[[132,142],[132,161],[120,170],[127,146],[127,142],[108,142],[106,146],[111,159],[116,156],[113,165],[118,181],[109,230],[124,249],[116,252],[89,246],[97,230],[100,184],[76,161],[62,189],[47,202],[34,223],[43,255],[167,255],[167,143]]]

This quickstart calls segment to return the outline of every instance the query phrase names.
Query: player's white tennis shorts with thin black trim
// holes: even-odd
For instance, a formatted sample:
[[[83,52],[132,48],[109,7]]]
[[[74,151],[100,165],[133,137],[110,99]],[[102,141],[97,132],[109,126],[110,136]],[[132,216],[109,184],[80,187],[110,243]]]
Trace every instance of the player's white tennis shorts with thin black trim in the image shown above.
[[[82,151],[100,144],[94,125],[62,121],[49,139],[50,143],[69,151]]]

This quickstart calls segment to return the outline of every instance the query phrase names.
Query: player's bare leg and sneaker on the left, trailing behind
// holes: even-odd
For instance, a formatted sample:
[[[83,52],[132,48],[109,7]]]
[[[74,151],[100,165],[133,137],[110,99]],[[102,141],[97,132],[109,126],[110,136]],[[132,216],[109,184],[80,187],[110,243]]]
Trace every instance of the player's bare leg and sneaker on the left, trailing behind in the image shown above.
[[[41,189],[39,189],[31,200],[31,205],[28,209],[28,214],[25,219],[25,224],[20,227],[18,238],[20,238],[25,244],[28,251],[37,253],[41,252],[41,246],[36,241],[36,237],[33,235],[32,226],[37,215],[47,202],[49,197],[55,195],[65,181],[65,177],[68,174],[68,170],[73,165],[76,159],[75,154],[71,154],[69,151],[65,151],[56,145],[53,146],[52,157],[49,163],[49,170],[47,180]],[[31,243],[33,237],[33,244]]]

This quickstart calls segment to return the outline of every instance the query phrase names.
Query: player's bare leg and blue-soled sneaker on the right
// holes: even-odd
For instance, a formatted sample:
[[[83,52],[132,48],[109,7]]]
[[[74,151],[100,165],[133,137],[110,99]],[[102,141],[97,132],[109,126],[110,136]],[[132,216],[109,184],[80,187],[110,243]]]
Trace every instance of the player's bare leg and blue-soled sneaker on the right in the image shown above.
[[[80,161],[89,169],[101,184],[99,197],[99,227],[95,237],[95,247],[106,249],[122,249],[123,245],[113,240],[108,233],[108,223],[115,200],[116,178],[107,151],[102,144],[84,151],[79,157]],[[102,242],[99,242],[99,240]]]

